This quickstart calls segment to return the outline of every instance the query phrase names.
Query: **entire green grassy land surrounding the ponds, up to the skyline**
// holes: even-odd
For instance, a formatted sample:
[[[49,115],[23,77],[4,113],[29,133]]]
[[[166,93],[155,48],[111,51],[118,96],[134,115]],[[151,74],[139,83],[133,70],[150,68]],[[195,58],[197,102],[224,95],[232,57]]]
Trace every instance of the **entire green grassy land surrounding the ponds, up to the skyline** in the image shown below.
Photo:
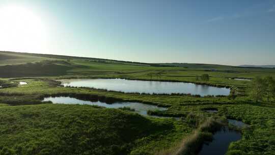
[[[198,80],[197,76],[202,74],[209,74],[209,81]],[[171,154],[198,130],[198,125],[188,121],[188,116],[194,114],[202,121],[210,117],[233,118],[250,125],[241,129],[241,140],[231,143],[228,154],[274,154],[274,98],[270,102],[253,102],[249,96],[252,81],[234,80],[254,80],[256,76],[275,78],[275,69],[146,64],[0,52],[0,86],[5,85],[0,88],[0,150],[7,154]],[[121,93],[61,87],[54,81],[89,77],[227,86],[237,97]],[[19,82],[28,84],[18,86]],[[138,101],[168,107],[167,111],[152,111],[152,114],[181,119],[150,118],[123,110],[41,102],[44,96],[50,95]],[[218,113],[204,111],[209,108],[217,109]]]

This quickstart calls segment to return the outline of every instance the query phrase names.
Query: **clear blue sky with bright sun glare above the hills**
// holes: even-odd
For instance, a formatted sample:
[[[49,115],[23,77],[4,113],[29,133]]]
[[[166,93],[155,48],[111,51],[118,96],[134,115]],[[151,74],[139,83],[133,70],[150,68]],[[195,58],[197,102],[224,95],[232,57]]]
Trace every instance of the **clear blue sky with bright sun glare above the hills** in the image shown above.
[[[0,0],[0,50],[275,65],[275,0]]]

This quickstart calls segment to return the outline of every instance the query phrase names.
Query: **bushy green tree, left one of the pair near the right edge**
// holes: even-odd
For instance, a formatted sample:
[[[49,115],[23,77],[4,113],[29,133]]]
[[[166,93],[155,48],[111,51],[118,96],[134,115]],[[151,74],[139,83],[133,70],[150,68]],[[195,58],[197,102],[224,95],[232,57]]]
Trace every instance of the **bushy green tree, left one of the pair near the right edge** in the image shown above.
[[[250,95],[256,102],[262,100],[265,93],[266,83],[261,77],[256,77],[252,83]]]

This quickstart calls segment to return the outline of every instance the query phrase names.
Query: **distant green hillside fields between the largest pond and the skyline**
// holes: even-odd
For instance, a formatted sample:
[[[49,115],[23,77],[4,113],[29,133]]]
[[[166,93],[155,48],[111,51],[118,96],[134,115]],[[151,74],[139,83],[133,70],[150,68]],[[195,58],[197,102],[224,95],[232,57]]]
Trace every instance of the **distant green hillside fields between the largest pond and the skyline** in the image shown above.
[[[196,76],[207,73],[212,77],[210,78],[209,82],[213,82],[216,84],[223,83],[225,81],[232,84],[243,83],[236,80],[228,80],[228,78],[233,77],[248,79],[253,79],[256,76],[267,75],[275,77],[275,69],[270,68],[238,68],[234,66],[224,65],[186,63],[160,64],[159,66],[155,66],[155,64],[130,63],[96,58],[9,52],[0,52],[0,56],[0,71],[2,72],[2,74],[0,74],[0,77],[82,75],[195,82]],[[24,69],[24,67],[26,66],[25,63],[34,62],[38,63],[28,64],[29,66],[33,67],[33,71],[31,69]],[[19,65],[5,67],[5,65],[12,64]],[[64,67],[66,69],[64,69]],[[12,71],[13,73],[5,73],[5,71],[7,70]]]

